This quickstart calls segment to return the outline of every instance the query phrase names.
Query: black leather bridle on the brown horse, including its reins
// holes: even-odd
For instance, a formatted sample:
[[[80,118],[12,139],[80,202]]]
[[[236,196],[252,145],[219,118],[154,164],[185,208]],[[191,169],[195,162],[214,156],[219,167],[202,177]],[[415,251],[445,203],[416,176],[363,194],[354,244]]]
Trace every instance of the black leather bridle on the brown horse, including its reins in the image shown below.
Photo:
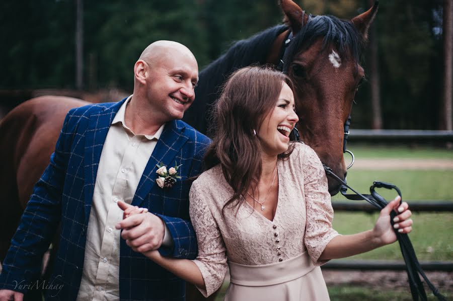
[[[291,43],[291,40],[293,38],[293,34],[291,30],[288,30],[288,34],[286,38],[284,39],[283,45],[280,50],[280,59],[277,64],[277,69],[282,71],[283,73],[287,74],[287,70],[283,69],[284,62],[283,62],[283,57],[285,55],[286,49],[288,48],[289,44]],[[352,157],[352,162],[349,164],[349,166],[346,169],[349,169],[352,167],[354,164],[354,154],[348,149],[346,149],[346,144],[348,141],[349,137],[349,125],[351,124],[351,114],[349,113],[348,118],[346,119],[344,123],[344,137],[343,137],[343,154],[348,153]],[[294,126],[293,130],[291,131],[291,138],[292,140],[302,142],[300,141],[300,136],[298,133],[297,128]],[[326,175],[329,175],[333,178],[335,178],[337,181],[339,181],[342,185],[340,188],[341,194],[345,196],[349,200],[365,200],[371,205],[378,207],[379,209],[383,209],[388,202],[386,201],[385,198],[383,198],[379,193],[375,191],[375,188],[387,188],[387,189],[395,189],[398,194],[401,197],[401,191],[400,189],[390,183],[385,183],[385,182],[373,182],[373,185],[370,187],[370,193],[371,194],[360,194],[359,192],[355,191],[352,187],[350,187],[346,183],[346,177],[344,181],[338,177],[333,170],[323,164],[324,170],[326,171]],[[347,190],[351,189],[355,194],[347,194]],[[400,201],[400,204],[402,202],[402,198]],[[390,216],[390,222],[393,226],[394,221],[393,218],[396,216],[396,212],[392,211]],[[408,280],[409,280],[409,286],[411,289],[411,294],[413,300],[418,300],[420,297],[422,300],[427,300],[426,292],[423,287],[423,283],[420,279],[420,274],[422,275],[423,279],[425,280],[426,284],[428,287],[431,289],[433,294],[439,299],[439,300],[446,300],[445,297],[440,294],[440,292],[437,290],[437,288],[429,281],[425,273],[423,272],[423,269],[420,266],[420,263],[418,262],[417,256],[415,255],[414,248],[412,246],[412,243],[409,239],[409,236],[405,233],[399,233],[397,229],[394,229],[395,234],[397,236],[398,243],[400,244],[400,249],[401,253],[403,254],[404,262],[406,263],[406,272],[408,275]]]

